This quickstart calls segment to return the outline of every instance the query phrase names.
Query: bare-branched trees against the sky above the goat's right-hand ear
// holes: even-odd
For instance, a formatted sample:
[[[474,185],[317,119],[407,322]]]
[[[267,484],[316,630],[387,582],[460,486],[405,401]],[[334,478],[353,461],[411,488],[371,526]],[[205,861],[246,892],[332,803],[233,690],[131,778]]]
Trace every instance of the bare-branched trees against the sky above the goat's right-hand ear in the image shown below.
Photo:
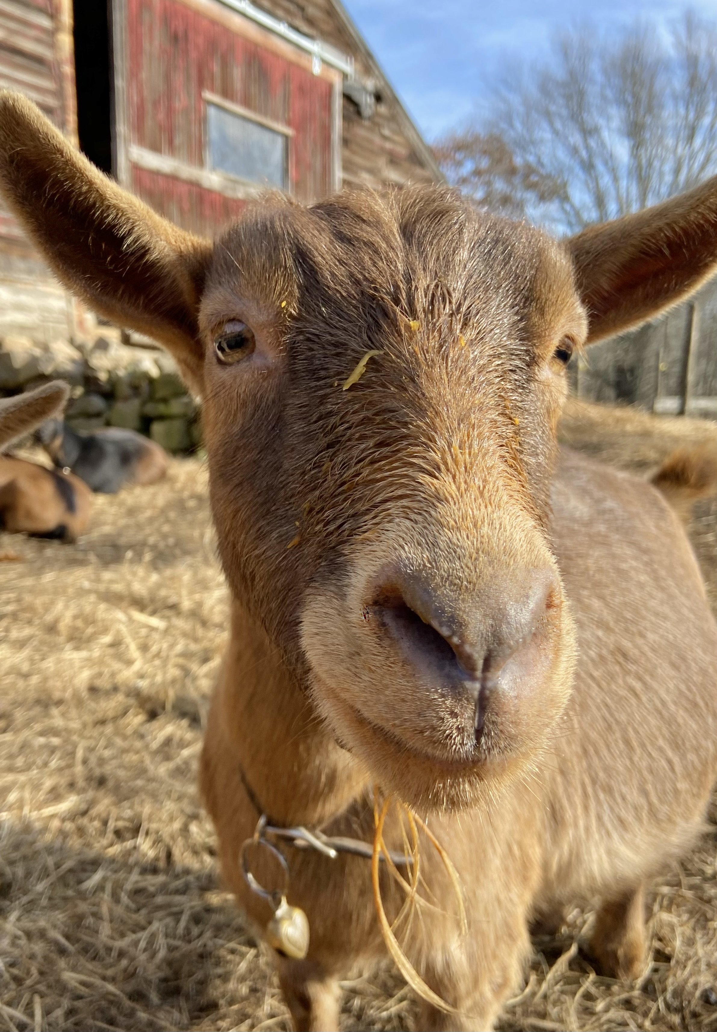
[[[717,23],[564,33],[488,111],[436,146],[477,203],[575,231],[662,200],[717,171]]]

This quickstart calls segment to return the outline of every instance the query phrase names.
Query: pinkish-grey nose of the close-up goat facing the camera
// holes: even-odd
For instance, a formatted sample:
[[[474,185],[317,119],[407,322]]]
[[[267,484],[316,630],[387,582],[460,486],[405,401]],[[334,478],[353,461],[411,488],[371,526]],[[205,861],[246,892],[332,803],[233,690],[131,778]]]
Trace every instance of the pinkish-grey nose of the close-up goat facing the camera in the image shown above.
[[[479,740],[491,694],[529,685],[537,651],[531,646],[559,598],[549,569],[495,577],[460,600],[445,598],[421,577],[389,574],[379,578],[367,609],[422,681],[467,691]]]

